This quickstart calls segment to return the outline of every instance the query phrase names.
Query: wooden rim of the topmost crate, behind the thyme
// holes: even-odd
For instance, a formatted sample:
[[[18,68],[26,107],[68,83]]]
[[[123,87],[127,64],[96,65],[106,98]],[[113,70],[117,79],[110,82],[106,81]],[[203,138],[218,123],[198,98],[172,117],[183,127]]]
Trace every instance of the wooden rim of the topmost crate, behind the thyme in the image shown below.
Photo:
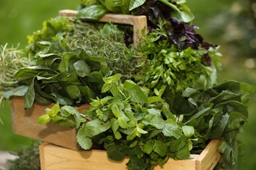
[[[74,17],[78,10],[60,10],[59,16]],[[146,16],[133,16],[126,14],[106,14],[98,22],[110,22],[114,24],[129,24],[133,25],[133,44],[138,46],[142,37],[142,30],[147,28]]]

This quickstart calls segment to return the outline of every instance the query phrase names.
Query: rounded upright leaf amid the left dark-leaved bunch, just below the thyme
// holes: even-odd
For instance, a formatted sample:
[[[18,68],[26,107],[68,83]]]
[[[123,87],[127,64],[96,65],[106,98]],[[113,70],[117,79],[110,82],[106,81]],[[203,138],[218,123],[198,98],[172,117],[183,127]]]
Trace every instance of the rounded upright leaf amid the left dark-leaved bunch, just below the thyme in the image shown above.
[[[90,75],[91,67],[83,60],[76,61],[74,63],[75,73],[78,76],[85,77]]]

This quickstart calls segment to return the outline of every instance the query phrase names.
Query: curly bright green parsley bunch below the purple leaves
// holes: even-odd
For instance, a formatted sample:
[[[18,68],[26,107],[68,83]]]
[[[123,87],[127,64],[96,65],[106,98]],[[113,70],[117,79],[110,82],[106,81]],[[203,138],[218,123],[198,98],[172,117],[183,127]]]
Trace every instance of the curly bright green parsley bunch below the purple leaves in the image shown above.
[[[146,61],[136,76],[137,81],[146,84],[152,92],[154,88],[167,86],[172,92],[182,93],[195,86],[200,78],[204,80],[204,88],[213,87],[217,83],[216,69],[221,65],[217,48],[195,50],[189,46],[181,50],[169,43],[163,26],[160,22],[158,29],[143,37],[139,54],[146,56]],[[209,64],[203,62],[205,56],[211,59]]]

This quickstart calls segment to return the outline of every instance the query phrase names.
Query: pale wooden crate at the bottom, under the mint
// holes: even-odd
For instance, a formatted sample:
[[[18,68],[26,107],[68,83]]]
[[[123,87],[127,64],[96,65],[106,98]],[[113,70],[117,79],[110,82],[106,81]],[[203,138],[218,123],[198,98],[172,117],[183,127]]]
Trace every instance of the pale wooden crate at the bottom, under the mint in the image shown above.
[[[219,144],[220,141],[212,140],[200,155],[191,154],[188,160],[169,159],[163,167],[157,166],[155,169],[213,169],[221,159],[221,154],[217,150]],[[39,146],[39,152],[42,170],[127,169],[127,166],[125,165],[125,163],[128,161],[127,158],[125,158],[123,161],[112,161],[108,159],[106,151],[104,150],[75,151],[53,144],[43,143]]]

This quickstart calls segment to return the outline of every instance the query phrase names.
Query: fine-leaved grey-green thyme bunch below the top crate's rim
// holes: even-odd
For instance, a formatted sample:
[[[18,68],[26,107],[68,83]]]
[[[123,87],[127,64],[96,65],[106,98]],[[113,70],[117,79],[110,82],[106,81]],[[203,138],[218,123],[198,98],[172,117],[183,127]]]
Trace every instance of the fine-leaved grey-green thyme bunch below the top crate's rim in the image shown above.
[[[137,71],[139,58],[133,47],[125,45],[124,31],[117,25],[89,24],[76,20],[73,30],[66,37],[71,50],[83,48],[90,55],[102,56],[114,75],[121,73],[125,79],[132,78]]]

